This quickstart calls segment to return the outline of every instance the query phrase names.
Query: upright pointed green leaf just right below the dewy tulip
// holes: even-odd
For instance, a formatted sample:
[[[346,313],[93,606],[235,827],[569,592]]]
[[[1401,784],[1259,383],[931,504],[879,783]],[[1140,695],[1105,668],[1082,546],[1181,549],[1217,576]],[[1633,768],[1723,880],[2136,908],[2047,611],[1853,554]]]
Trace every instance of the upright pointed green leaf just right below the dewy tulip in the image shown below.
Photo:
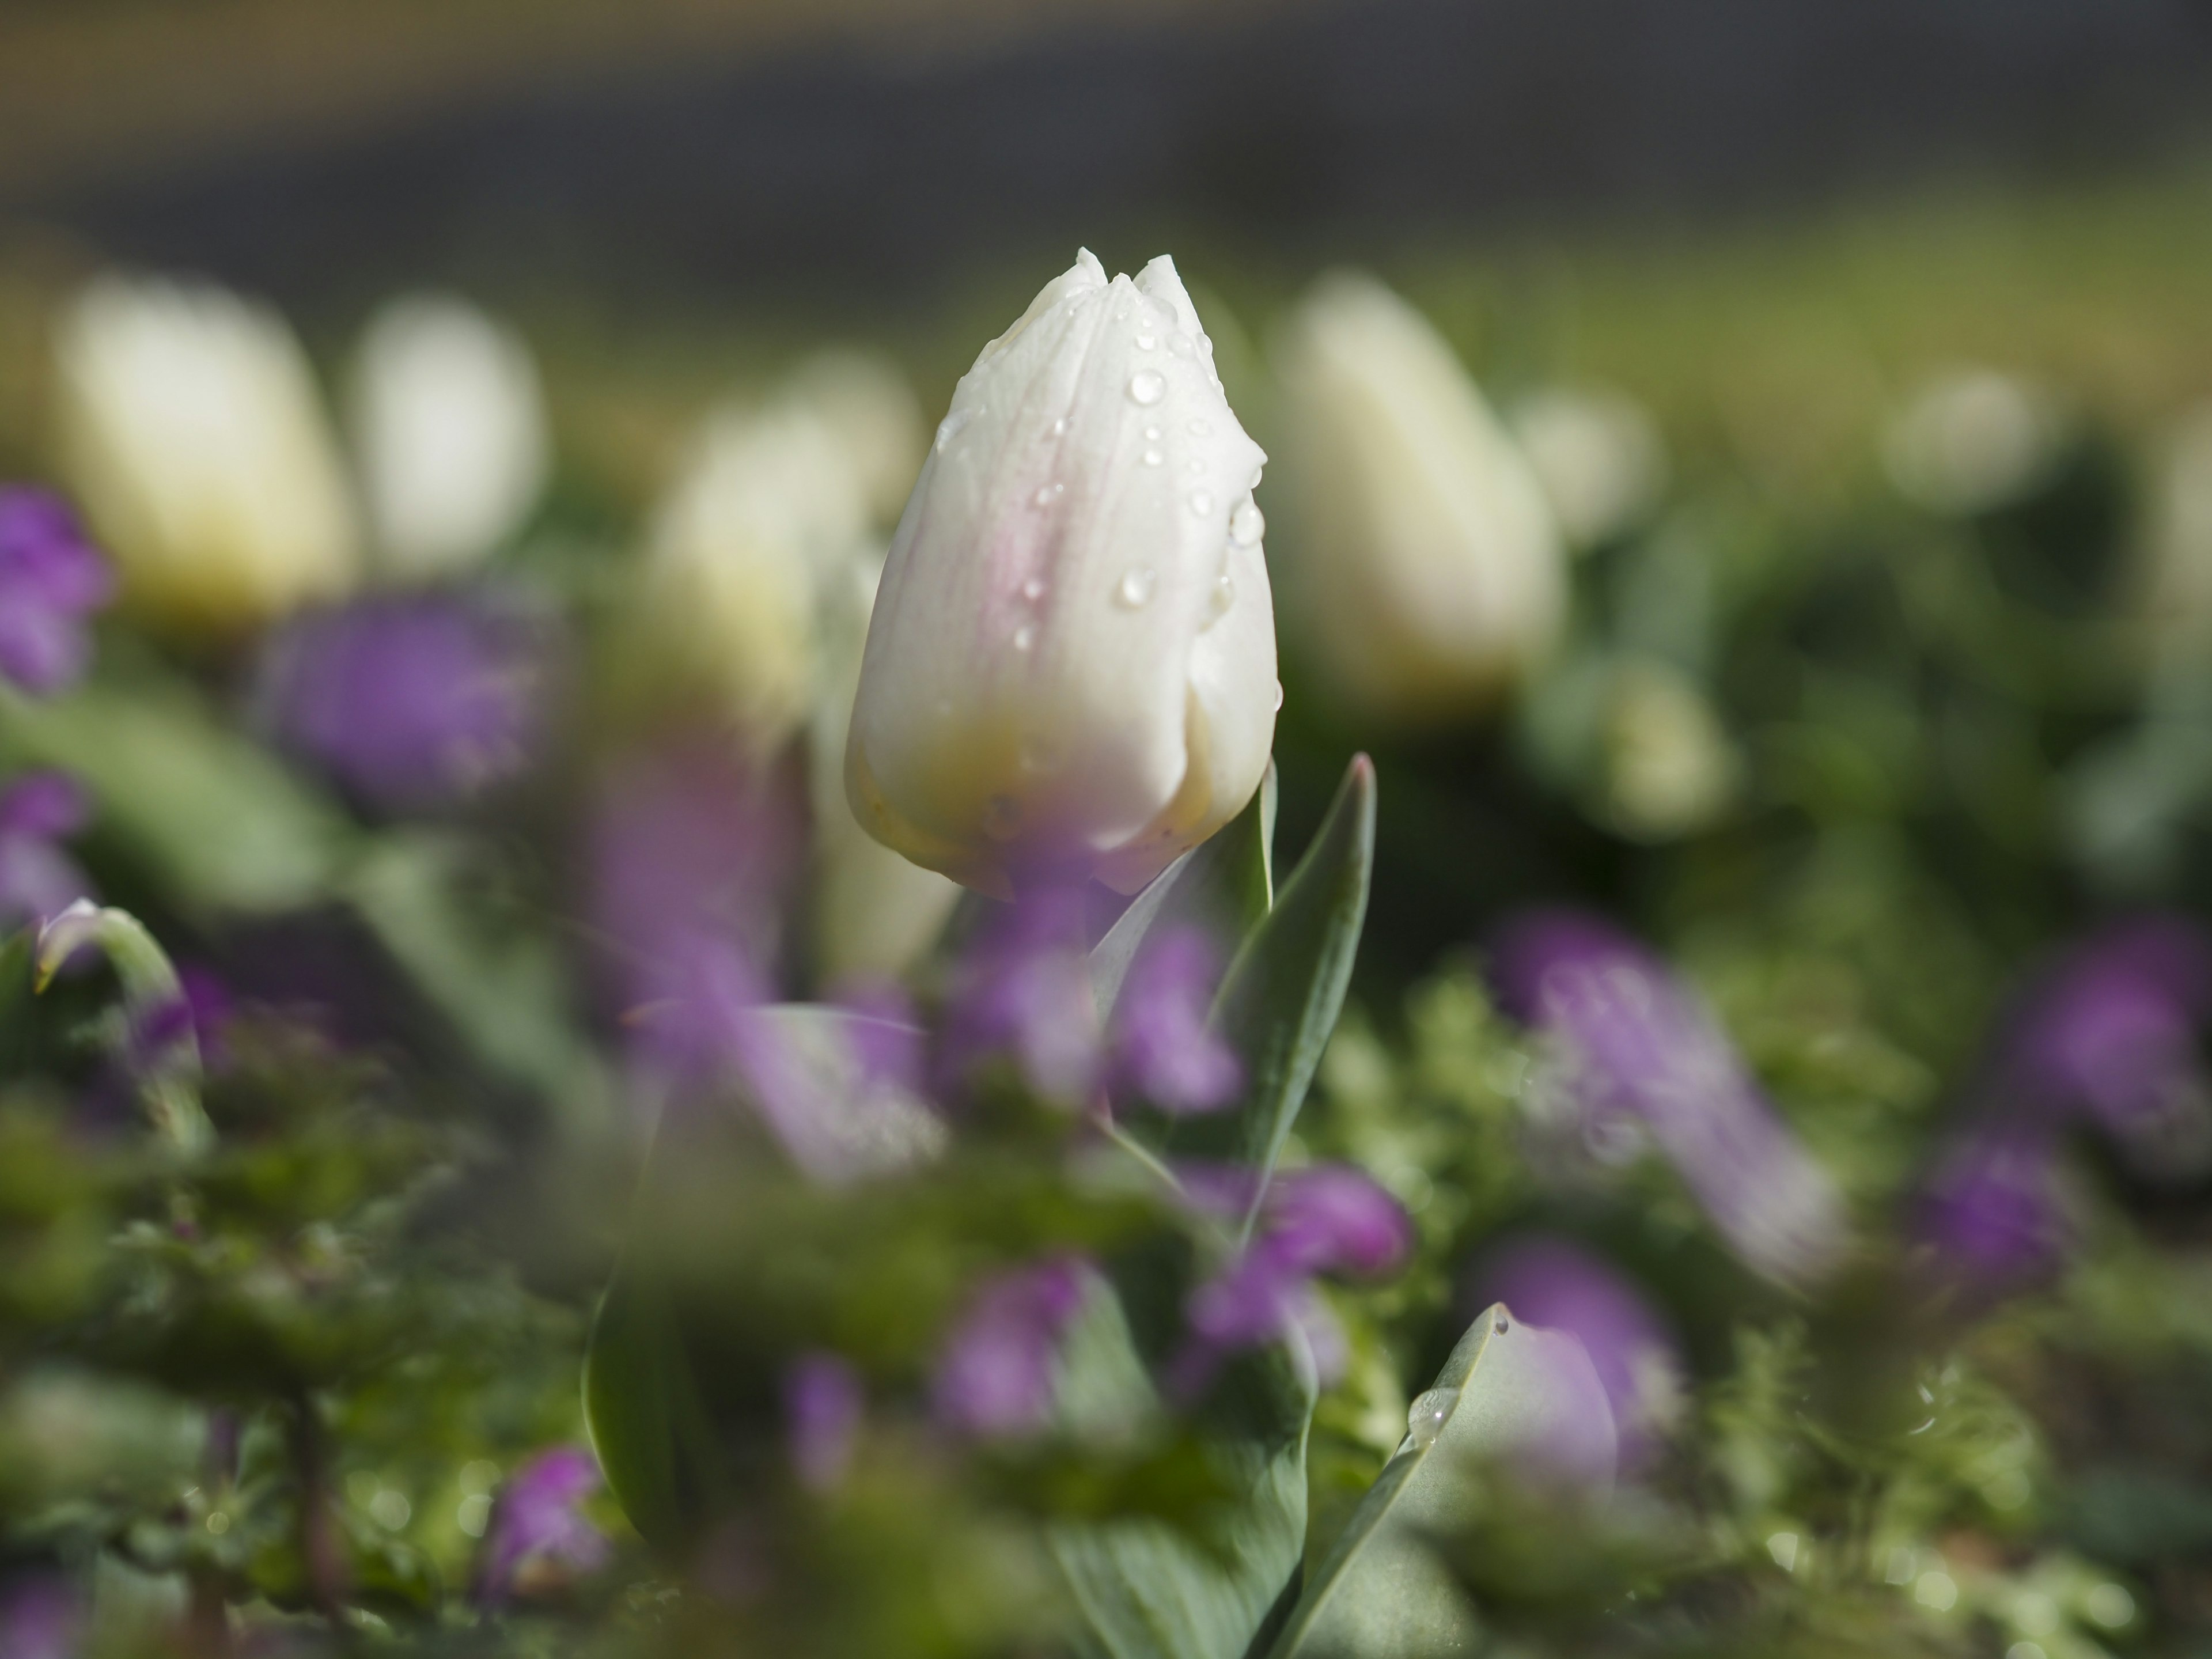
[[[1245,1232],[1345,1006],[1374,849],[1376,772],[1360,754],[1214,998],[1214,1026],[1245,1068],[1243,1099],[1225,1113],[1172,1119],[1161,1133],[1166,1157],[1232,1159],[1259,1170]]]

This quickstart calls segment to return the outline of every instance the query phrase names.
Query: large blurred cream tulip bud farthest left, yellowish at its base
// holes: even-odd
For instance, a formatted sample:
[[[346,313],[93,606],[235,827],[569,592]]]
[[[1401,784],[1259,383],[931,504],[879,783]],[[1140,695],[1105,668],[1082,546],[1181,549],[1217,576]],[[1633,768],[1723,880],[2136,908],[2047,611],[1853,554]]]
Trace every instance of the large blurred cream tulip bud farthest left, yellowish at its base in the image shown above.
[[[62,467],[142,615],[237,633],[354,584],[345,471],[274,310],[102,276],[60,319],[55,372]]]

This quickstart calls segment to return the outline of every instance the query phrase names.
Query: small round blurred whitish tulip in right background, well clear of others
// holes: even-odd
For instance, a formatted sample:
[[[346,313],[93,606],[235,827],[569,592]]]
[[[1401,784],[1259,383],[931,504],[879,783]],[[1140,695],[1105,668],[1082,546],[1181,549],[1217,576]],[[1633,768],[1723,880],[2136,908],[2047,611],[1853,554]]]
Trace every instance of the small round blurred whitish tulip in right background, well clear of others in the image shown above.
[[[2048,392],[1995,369],[1953,369],[1889,422],[1882,462],[1907,500],[1966,515],[2026,495],[2064,442],[2066,416]]]

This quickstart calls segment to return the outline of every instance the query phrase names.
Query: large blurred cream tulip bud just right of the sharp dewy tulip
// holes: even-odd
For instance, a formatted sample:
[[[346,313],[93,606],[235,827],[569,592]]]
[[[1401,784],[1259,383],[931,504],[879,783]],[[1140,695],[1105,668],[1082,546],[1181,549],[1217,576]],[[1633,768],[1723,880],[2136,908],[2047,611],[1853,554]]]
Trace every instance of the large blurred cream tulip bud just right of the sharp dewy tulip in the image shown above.
[[[1292,595],[1365,712],[1480,708],[1555,641],[1559,529],[1444,338],[1369,276],[1325,276],[1281,354],[1305,518]]]

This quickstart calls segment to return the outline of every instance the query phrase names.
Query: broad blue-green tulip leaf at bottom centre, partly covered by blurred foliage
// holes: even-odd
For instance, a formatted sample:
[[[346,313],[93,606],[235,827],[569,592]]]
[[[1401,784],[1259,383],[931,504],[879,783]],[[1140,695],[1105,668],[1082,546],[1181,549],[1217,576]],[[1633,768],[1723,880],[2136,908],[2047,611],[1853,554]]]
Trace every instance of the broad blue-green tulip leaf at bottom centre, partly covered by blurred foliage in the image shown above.
[[[1203,1449],[1234,1498],[1197,1528],[1164,1520],[1055,1526],[1051,1551],[1106,1659],[1243,1659],[1298,1575],[1314,1363],[1303,1343],[1239,1356],[1199,1407]],[[1099,1283],[1062,1354],[1062,1418],[1130,1436],[1161,1416],[1121,1296]]]

